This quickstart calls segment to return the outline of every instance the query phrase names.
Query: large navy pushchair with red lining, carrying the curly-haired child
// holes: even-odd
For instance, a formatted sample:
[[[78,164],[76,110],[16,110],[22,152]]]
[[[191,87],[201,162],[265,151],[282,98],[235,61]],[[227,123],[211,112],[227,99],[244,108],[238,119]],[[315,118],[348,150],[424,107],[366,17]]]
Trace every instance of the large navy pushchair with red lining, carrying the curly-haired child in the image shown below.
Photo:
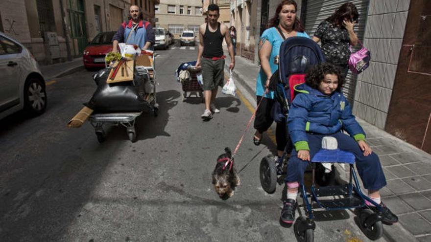
[[[311,39],[292,37],[283,42],[280,47],[279,71],[271,78],[270,89],[275,91],[275,98],[281,107],[284,118],[287,118],[289,104],[294,98],[295,86],[305,82],[305,73],[309,67],[324,61],[320,47]],[[300,216],[294,223],[294,233],[298,241],[313,241],[316,227],[313,210],[319,208],[324,210],[358,209],[358,223],[361,231],[371,240],[377,240],[383,235],[383,207],[361,192],[359,180],[353,166],[355,156],[348,152],[343,152],[343,155],[339,155],[340,152],[342,151],[338,149],[322,149],[311,159],[311,186],[307,189],[306,185],[301,184],[299,187],[306,217]],[[279,182],[283,180],[278,176],[286,174],[289,153],[290,150],[286,148],[279,161],[275,161],[270,155],[262,159],[260,179],[265,192],[273,193],[277,180]],[[327,158],[322,159],[322,156],[343,158],[328,160]],[[349,182],[331,186],[319,187],[316,185],[316,167],[323,162],[348,164],[350,166]],[[375,213],[371,209],[367,209],[365,200],[375,205],[379,212]]]

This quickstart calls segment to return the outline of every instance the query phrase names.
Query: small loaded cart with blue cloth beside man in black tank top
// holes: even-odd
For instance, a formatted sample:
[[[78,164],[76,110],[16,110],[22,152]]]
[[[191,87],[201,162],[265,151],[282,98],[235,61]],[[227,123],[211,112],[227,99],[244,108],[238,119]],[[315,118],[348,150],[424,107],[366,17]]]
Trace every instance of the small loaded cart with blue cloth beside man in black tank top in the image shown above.
[[[205,102],[202,89],[202,74],[201,69],[196,68],[196,61],[181,63],[175,71],[177,81],[181,83],[183,89],[183,102],[190,97],[192,93],[196,97],[201,98],[201,102]],[[189,96],[187,96],[189,92]],[[199,94],[199,95],[198,95]]]

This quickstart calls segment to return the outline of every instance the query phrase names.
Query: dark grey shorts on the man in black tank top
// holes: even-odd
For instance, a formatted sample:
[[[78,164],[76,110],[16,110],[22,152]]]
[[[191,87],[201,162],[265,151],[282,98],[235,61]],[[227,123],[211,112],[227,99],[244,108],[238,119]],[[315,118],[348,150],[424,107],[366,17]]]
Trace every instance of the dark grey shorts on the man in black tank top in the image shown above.
[[[224,80],[224,59],[218,59],[216,61],[209,58],[202,58],[202,81],[203,89],[214,90],[217,86],[223,86]]]

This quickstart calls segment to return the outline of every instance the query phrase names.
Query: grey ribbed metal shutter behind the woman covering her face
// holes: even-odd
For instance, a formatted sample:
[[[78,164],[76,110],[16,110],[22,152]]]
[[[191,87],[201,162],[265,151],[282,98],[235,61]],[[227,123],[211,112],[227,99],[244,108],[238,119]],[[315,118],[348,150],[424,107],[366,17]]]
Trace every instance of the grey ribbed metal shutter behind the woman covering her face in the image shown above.
[[[312,37],[320,22],[331,16],[335,12],[335,9],[345,2],[349,2],[349,0],[307,0],[305,18],[301,18],[305,22],[305,31],[307,34]],[[359,19],[358,23],[355,24],[354,30],[359,40],[363,43],[369,0],[350,0],[350,2],[355,4],[358,9]],[[354,48],[354,51],[358,49],[359,44]],[[355,99],[356,80],[357,75],[349,70],[344,83],[343,93],[352,105]]]

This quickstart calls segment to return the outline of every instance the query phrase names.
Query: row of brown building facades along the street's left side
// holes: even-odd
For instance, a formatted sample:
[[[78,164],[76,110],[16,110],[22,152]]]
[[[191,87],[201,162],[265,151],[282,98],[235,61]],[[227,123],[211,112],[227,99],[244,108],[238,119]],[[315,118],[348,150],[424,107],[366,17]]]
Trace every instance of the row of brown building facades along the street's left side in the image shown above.
[[[154,20],[158,1],[0,0],[0,31],[24,44],[38,62],[61,62],[80,56],[98,33],[118,30],[133,3]]]

